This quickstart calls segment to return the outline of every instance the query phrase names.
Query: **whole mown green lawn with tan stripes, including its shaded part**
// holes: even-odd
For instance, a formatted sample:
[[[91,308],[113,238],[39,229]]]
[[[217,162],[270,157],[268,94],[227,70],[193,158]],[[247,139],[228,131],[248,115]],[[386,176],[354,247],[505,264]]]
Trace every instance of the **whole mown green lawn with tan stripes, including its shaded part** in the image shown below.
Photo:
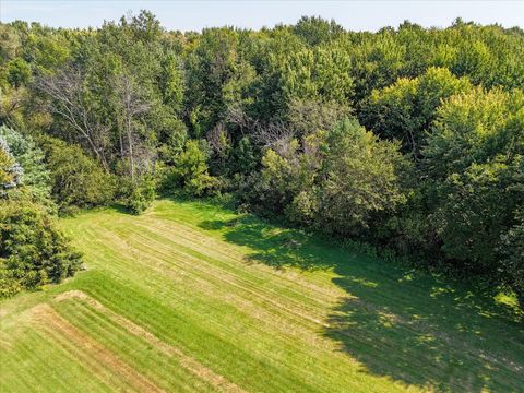
[[[1,306],[4,392],[523,392],[511,307],[200,202],[61,222],[87,270]]]

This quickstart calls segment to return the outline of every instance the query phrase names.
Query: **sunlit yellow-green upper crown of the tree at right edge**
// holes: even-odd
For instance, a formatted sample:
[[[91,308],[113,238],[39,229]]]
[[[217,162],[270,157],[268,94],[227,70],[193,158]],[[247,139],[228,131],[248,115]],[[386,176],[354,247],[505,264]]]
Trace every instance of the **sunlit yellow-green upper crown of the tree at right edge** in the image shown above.
[[[439,108],[432,138],[422,152],[425,165],[437,180],[473,163],[508,162],[522,154],[523,136],[524,94],[477,88]]]

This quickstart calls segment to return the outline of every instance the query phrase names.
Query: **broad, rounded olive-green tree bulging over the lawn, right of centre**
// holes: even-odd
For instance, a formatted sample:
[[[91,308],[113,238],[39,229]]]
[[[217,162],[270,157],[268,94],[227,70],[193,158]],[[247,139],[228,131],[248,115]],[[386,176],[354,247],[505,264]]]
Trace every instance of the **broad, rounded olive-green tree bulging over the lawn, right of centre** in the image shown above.
[[[291,222],[338,235],[356,235],[373,215],[405,202],[408,168],[395,143],[380,141],[355,119],[326,133],[269,148],[251,203],[285,212]],[[300,147],[300,148],[299,148]]]

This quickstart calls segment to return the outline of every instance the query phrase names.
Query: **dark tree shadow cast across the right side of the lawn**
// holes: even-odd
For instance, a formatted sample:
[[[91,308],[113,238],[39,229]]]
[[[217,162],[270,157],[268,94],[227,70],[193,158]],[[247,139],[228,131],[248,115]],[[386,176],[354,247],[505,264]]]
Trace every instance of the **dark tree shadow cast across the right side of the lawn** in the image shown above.
[[[322,334],[366,372],[441,392],[524,391],[524,326],[492,297],[250,215],[201,227],[249,247],[250,263],[332,270],[347,296]]]

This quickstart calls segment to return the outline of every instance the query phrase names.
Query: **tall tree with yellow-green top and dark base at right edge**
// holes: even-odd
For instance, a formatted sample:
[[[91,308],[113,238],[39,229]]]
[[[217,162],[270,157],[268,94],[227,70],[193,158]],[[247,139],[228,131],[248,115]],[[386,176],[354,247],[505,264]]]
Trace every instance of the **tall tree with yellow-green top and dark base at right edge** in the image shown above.
[[[523,141],[520,91],[478,88],[438,110],[421,169],[431,223],[445,258],[468,271],[498,276],[496,250],[524,202]]]

